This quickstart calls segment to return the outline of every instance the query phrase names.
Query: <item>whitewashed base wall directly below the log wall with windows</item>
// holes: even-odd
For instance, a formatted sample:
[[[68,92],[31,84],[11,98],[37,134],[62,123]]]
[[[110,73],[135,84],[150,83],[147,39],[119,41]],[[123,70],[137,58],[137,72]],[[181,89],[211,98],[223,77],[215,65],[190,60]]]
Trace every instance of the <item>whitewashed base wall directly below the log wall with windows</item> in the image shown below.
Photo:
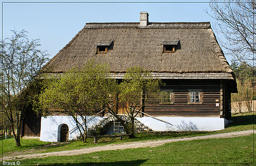
[[[228,120],[219,117],[151,117],[136,118],[154,131],[214,131],[222,130]]]

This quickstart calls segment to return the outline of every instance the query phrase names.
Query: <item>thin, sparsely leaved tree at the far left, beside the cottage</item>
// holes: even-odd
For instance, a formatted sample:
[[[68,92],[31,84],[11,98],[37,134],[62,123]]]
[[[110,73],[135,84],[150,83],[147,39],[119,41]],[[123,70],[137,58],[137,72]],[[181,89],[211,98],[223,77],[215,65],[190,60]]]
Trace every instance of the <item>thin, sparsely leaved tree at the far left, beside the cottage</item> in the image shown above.
[[[32,97],[30,85],[42,72],[48,54],[37,48],[40,46],[39,39],[28,39],[27,31],[12,32],[11,38],[6,38],[0,43],[0,112],[6,115],[16,145],[20,146],[22,119]]]

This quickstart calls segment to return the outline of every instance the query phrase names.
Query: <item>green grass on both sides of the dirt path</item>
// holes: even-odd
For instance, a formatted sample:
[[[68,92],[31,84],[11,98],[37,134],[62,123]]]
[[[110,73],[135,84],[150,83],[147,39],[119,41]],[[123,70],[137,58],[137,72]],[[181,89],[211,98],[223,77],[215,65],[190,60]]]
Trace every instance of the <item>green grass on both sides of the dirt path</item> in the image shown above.
[[[13,138],[2,140],[2,152],[5,156],[12,152],[25,153],[45,153],[62,150],[81,149],[84,147],[106,145],[122,142],[136,142],[158,139],[172,139],[178,137],[194,137],[223,132],[250,130],[254,127],[253,114],[235,115],[232,117],[233,123],[227,125],[224,130],[215,132],[165,132],[165,133],[140,133],[135,139],[124,137],[122,141],[119,138],[100,139],[94,144],[93,139],[89,138],[86,143],[74,141],[65,144],[50,145],[50,142],[41,142],[39,140],[21,140],[21,147],[16,147]],[[4,137],[3,137],[4,138]],[[208,139],[194,140],[186,142],[173,142],[155,148],[137,148],[116,151],[103,151],[79,156],[47,157],[42,159],[20,160],[22,164],[64,164],[80,163],[88,165],[106,164],[108,165],[150,165],[164,162],[166,164],[250,164],[253,154],[253,137],[244,136],[227,139]],[[128,154],[128,155],[127,155]],[[201,156],[200,156],[201,155]],[[217,155],[217,156],[216,156]],[[211,160],[210,160],[211,159]],[[240,165],[239,165],[240,166]],[[241,165],[242,166],[242,165]],[[244,166],[244,165],[243,165]],[[245,165],[246,166],[246,165]]]

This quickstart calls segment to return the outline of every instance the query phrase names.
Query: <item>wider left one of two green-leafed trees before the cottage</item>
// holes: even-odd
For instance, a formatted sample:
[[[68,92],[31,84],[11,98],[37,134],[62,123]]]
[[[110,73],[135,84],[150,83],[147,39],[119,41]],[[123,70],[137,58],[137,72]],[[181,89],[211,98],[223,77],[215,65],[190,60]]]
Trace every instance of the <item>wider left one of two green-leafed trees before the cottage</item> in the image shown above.
[[[73,68],[58,79],[46,79],[38,105],[45,115],[52,109],[72,116],[86,142],[87,115],[101,110],[109,98],[107,87],[113,80],[107,78],[108,71],[106,65],[91,61],[81,70]]]

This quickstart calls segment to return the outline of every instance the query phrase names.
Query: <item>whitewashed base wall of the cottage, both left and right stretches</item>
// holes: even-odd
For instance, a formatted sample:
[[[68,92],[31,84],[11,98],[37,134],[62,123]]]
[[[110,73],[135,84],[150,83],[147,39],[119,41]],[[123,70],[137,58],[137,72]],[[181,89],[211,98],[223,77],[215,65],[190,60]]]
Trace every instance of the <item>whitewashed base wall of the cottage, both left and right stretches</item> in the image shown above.
[[[89,119],[91,117],[87,117]],[[215,131],[222,130],[228,123],[228,120],[218,117],[157,117],[158,119],[168,121],[172,125],[151,117],[136,118],[145,126],[154,131]],[[88,128],[95,126],[101,117],[94,117],[87,122]],[[79,121],[82,122],[80,119]],[[45,142],[59,142],[60,129],[63,124],[68,125],[68,140],[76,139],[80,136],[76,128],[75,121],[70,116],[47,116],[41,118],[40,140]],[[73,129],[73,130],[72,130]]]

